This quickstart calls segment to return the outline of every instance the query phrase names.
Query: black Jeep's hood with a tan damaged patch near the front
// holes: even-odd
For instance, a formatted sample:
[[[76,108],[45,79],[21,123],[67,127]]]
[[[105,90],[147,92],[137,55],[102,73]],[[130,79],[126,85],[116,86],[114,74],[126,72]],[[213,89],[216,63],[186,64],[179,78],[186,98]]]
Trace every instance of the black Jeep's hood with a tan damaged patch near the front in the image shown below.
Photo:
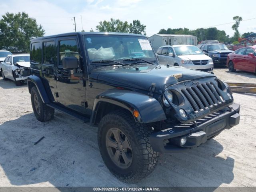
[[[136,70],[136,68],[138,68]],[[189,68],[164,65],[137,65],[125,67],[97,68],[92,77],[98,82],[116,87],[149,90],[152,83],[156,84],[156,93],[161,94],[167,87],[178,82],[196,80],[214,76],[213,74]]]

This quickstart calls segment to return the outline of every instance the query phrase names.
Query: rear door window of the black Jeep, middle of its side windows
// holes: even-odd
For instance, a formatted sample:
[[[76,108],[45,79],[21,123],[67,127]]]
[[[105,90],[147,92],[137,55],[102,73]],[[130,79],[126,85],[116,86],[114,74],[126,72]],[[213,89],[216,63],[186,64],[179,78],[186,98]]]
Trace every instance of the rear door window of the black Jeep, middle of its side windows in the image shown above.
[[[54,64],[54,41],[44,42],[43,46],[43,63]]]

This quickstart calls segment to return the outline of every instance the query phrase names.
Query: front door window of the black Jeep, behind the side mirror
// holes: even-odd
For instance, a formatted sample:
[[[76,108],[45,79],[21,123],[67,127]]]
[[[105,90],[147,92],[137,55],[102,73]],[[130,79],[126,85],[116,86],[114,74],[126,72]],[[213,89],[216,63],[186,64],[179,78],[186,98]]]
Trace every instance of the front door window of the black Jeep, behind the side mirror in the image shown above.
[[[76,57],[79,60],[78,46],[76,40],[61,40],[59,42],[59,65],[62,65],[64,57]]]

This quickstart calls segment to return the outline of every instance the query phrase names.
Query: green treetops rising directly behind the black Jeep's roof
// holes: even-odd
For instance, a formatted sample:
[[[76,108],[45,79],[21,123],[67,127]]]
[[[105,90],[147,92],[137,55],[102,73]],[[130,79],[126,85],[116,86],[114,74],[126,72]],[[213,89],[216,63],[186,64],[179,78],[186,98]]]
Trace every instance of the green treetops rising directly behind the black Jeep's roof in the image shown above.
[[[127,21],[115,20],[113,18],[110,21],[100,21],[99,25],[96,26],[96,30],[100,32],[122,32],[122,33],[135,33],[135,34],[146,34],[146,26],[141,24],[139,20],[133,20],[131,24]]]

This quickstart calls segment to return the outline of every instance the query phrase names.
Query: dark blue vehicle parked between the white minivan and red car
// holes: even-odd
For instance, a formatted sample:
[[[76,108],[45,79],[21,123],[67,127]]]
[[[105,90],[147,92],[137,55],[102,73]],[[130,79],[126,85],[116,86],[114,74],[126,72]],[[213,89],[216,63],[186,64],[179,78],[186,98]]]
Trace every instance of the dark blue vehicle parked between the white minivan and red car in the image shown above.
[[[214,64],[226,65],[228,54],[233,51],[229,50],[225,44],[222,43],[211,43],[211,44],[200,44],[200,48],[204,54],[210,56]]]

